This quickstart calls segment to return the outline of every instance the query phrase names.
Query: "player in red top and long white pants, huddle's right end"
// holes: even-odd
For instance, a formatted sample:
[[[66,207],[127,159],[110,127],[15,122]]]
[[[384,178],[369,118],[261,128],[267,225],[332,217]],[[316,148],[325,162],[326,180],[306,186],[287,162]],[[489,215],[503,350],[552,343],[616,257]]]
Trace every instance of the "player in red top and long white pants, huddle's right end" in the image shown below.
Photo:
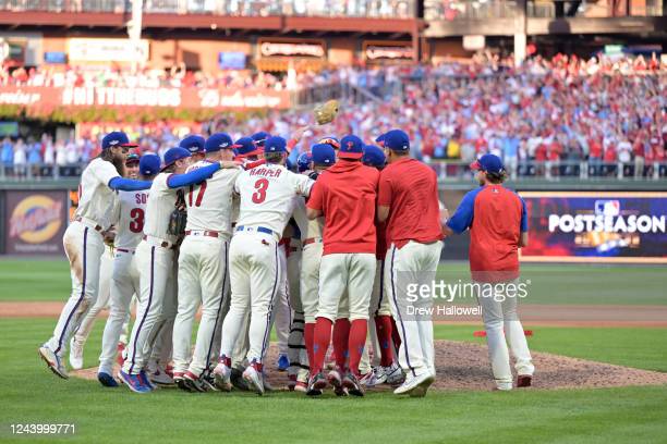
[[[407,373],[393,393],[424,396],[435,381],[433,322],[404,319],[409,303],[399,276],[403,284],[415,276],[420,282],[435,280],[442,249],[438,184],[430,168],[410,158],[410,139],[403,131],[386,133],[384,147],[389,164],[379,180],[377,220],[387,223],[385,292],[399,324],[399,362]]]

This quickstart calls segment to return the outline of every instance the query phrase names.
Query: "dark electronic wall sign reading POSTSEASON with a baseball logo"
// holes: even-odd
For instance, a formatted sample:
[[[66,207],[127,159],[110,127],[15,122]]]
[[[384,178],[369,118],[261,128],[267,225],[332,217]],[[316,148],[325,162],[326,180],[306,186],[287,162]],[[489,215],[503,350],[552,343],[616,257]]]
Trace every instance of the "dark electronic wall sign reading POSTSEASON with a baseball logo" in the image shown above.
[[[524,192],[525,262],[667,263],[667,193]]]

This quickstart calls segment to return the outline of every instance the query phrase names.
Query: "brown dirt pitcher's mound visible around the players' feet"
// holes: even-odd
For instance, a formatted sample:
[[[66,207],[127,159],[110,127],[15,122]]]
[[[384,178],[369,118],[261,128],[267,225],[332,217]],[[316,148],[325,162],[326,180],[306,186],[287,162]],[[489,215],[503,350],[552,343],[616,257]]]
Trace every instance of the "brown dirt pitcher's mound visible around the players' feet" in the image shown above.
[[[435,349],[438,373],[434,384],[435,388],[489,391],[494,387],[486,345],[436,341]],[[277,359],[278,347],[271,344],[266,359],[268,380],[277,390],[284,390],[288,382],[287,373],[275,370]],[[533,353],[533,363],[535,365],[534,388],[667,384],[667,373],[569,358],[548,353]],[[97,368],[72,371],[71,374],[96,380]],[[374,391],[389,388],[388,385],[385,385],[374,388]]]

